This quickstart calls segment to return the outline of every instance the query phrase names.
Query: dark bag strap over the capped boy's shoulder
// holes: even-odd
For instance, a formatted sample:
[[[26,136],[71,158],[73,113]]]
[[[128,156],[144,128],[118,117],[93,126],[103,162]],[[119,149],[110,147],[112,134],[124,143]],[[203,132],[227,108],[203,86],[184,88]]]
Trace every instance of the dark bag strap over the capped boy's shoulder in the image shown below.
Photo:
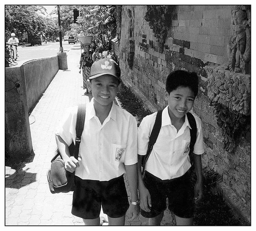
[[[76,117],[76,140],[75,140],[75,148],[73,156],[74,158],[78,159],[78,152],[79,146],[81,142],[81,135],[84,130],[85,125],[85,111],[86,111],[86,104],[79,104],[77,110],[77,117]]]

